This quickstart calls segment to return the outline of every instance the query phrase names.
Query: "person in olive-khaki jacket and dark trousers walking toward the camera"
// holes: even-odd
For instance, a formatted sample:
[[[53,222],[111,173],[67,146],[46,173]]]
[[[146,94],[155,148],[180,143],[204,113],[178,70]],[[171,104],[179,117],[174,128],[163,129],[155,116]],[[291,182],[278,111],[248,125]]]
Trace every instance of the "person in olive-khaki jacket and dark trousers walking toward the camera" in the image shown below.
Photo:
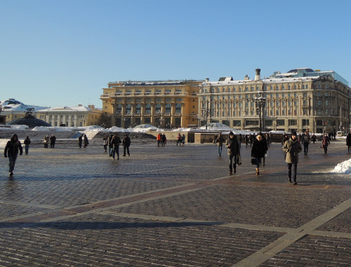
[[[298,184],[296,182],[296,173],[298,170],[298,153],[303,150],[296,132],[291,132],[291,137],[283,145],[283,151],[286,153],[285,162],[288,163],[288,178],[289,183]]]

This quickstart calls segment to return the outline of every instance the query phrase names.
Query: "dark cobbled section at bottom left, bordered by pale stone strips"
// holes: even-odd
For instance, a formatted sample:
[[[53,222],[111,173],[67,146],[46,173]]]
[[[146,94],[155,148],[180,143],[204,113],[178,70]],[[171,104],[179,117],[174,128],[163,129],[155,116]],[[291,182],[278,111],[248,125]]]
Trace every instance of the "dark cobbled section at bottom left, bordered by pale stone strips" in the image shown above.
[[[54,223],[17,225],[0,235],[0,264],[88,261],[133,266],[228,266],[282,233],[213,228],[91,214]],[[13,255],[15,252],[15,255]],[[37,255],[40,254],[40,258]],[[204,257],[204,254],[207,256]],[[88,266],[89,263],[86,264]]]

